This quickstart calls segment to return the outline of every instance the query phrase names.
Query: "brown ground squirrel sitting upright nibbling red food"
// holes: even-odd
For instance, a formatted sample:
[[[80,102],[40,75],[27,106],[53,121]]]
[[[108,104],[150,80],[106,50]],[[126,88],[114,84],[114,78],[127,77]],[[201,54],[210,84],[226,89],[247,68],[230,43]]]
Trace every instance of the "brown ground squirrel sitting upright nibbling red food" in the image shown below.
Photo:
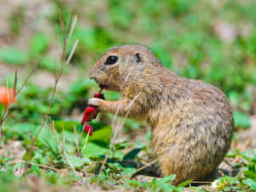
[[[90,70],[103,89],[120,91],[116,102],[91,98],[102,111],[146,120],[163,176],[174,184],[215,170],[230,148],[234,127],[230,104],[221,90],[186,79],[164,67],[143,45],[108,49]]]

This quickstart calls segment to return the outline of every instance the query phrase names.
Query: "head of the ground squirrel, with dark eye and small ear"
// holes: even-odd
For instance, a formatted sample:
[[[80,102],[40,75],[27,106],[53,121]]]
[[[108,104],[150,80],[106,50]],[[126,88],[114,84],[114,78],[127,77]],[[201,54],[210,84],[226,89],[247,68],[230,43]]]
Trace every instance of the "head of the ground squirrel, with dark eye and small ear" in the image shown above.
[[[145,71],[159,67],[160,61],[143,45],[122,45],[108,49],[90,70],[103,89],[121,90],[126,84],[143,80]]]

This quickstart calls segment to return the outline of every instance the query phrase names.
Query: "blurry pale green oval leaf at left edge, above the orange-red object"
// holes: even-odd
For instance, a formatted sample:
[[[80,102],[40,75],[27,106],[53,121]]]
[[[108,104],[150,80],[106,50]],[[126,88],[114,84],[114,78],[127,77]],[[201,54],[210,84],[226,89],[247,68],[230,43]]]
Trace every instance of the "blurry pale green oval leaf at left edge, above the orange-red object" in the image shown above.
[[[2,61],[14,65],[23,65],[29,60],[29,56],[25,51],[13,47],[0,50],[0,58]]]

